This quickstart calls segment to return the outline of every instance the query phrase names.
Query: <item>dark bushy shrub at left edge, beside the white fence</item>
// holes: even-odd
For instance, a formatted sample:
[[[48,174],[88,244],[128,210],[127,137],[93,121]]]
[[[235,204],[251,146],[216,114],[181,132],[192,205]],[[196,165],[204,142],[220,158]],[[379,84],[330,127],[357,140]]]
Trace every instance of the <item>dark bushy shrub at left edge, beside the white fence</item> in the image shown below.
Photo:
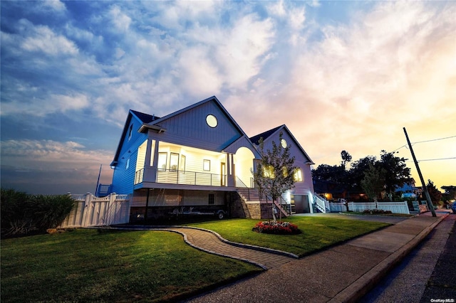
[[[56,228],[75,203],[70,196],[31,196],[1,188],[1,235],[16,236]]]

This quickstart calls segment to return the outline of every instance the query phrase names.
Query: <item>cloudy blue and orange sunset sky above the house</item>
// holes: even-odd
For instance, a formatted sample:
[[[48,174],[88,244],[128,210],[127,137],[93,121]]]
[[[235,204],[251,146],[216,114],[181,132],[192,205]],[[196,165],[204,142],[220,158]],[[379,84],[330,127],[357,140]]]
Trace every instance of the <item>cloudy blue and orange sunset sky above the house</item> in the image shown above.
[[[455,1],[0,5],[3,187],[93,193],[129,109],[212,95],[249,136],[286,124],[316,165],[411,159],[403,127],[447,138],[414,150],[425,179],[456,185]]]

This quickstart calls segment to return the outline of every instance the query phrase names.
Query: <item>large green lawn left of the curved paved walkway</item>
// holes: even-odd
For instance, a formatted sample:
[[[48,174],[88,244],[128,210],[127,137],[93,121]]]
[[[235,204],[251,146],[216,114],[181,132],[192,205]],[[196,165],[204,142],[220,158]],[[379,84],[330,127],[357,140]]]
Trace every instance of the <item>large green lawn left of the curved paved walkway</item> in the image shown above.
[[[162,231],[1,240],[1,302],[162,302],[260,271]]]

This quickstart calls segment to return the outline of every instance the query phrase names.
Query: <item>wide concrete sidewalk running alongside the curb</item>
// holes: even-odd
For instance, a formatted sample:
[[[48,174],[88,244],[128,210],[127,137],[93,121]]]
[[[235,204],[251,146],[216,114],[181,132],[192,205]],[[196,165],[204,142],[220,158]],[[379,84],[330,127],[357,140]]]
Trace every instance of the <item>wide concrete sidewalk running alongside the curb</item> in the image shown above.
[[[435,218],[424,213],[302,259],[285,257],[277,265],[272,260],[264,267],[269,270],[260,275],[186,302],[356,302],[447,214],[437,212]],[[188,230],[172,231],[188,233]],[[187,243],[189,238],[197,241],[195,235],[187,235]],[[207,241],[213,245],[207,251],[215,252],[217,239]],[[202,243],[198,245],[203,246]],[[251,255],[239,258],[246,260]],[[253,255],[260,255],[260,252]]]

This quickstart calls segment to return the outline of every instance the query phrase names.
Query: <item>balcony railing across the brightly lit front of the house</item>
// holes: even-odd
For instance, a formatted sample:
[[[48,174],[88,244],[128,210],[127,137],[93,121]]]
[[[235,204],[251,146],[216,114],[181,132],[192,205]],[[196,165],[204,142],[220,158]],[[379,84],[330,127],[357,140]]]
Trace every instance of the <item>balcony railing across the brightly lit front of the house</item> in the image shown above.
[[[150,171],[150,174],[147,174]],[[135,185],[143,181],[162,184],[181,184],[198,186],[227,186],[227,175],[209,174],[199,171],[179,171],[176,169],[147,168],[135,173]]]

